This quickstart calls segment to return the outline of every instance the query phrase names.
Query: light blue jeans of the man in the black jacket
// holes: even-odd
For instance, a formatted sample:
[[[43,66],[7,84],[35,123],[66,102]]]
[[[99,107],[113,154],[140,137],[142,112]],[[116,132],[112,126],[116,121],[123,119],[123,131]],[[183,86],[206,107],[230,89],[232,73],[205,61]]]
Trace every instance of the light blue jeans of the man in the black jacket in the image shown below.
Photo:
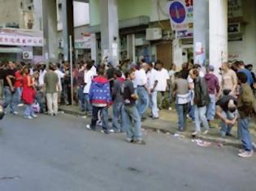
[[[195,106],[195,127],[196,127],[196,131],[200,131],[201,130],[201,122],[203,127],[208,130],[209,129],[209,125],[208,125],[208,121],[206,118],[206,106],[204,107],[197,107],[197,105]]]

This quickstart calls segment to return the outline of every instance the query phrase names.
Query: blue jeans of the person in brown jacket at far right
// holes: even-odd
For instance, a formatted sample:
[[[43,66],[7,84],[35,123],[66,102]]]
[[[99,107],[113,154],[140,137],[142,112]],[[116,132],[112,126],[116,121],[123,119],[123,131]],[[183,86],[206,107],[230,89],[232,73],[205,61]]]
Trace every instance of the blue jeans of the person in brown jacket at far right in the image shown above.
[[[241,133],[241,142],[245,151],[252,151],[253,146],[249,134],[249,117],[244,119],[238,118],[238,130]]]

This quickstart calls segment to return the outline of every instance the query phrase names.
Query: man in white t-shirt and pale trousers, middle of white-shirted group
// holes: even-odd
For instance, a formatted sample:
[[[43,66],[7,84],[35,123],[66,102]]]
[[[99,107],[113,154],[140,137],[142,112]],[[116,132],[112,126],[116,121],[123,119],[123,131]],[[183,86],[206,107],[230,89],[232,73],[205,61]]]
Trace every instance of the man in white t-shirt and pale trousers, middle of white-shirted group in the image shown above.
[[[150,88],[150,108],[152,119],[158,119],[158,91],[155,87],[158,85],[157,70],[154,69],[152,63],[149,64],[149,70],[147,72],[148,87]]]

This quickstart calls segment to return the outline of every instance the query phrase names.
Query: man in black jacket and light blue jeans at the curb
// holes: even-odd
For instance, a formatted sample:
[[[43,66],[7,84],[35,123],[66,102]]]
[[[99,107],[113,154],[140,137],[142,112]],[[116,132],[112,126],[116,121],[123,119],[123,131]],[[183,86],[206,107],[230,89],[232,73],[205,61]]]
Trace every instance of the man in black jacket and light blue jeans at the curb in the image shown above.
[[[206,79],[199,76],[199,71],[193,69],[189,71],[191,79],[194,83],[194,107],[195,107],[195,132],[193,136],[201,133],[201,122],[205,131],[202,134],[207,134],[209,130],[209,124],[206,118],[206,106],[210,102],[208,87]]]

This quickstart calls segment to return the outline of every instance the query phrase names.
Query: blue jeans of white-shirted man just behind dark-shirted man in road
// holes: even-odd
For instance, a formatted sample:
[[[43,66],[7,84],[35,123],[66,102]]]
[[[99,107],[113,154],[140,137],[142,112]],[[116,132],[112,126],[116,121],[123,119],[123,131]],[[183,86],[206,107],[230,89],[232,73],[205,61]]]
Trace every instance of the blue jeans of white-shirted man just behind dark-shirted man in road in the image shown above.
[[[147,108],[150,104],[150,97],[148,92],[145,90],[145,87],[137,87],[137,94],[139,99],[137,100],[137,110],[141,117],[143,117]]]

